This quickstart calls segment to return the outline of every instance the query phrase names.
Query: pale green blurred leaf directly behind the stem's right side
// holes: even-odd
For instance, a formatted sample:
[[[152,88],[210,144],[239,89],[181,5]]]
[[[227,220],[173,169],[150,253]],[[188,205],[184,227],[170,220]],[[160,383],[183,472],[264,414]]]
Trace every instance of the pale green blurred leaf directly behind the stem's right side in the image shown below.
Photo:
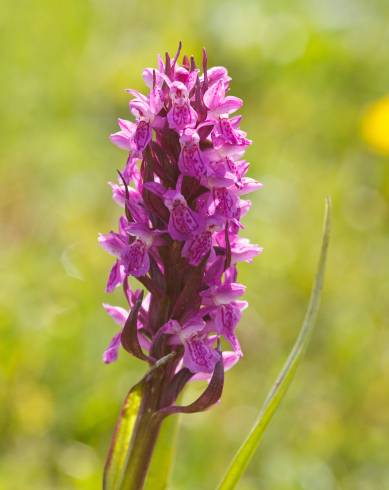
[[[167,417],[161,426],[151,465],[147,473],[145,490],[166,490],[173,466],[179,415]]]

